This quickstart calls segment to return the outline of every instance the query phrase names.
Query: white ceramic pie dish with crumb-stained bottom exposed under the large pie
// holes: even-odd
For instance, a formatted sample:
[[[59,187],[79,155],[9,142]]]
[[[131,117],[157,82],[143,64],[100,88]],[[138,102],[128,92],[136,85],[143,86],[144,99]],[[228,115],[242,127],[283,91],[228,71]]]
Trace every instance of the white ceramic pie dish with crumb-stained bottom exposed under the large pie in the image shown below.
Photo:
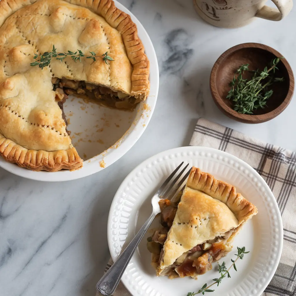
[[[84,159],[83,167],[73,172],[69,170],[60,170],[54,173],[36,172],[8,163],[0,157],[1,168],[15,175],[38,181],[74,180],[89,176],[111,165],[140,138],[151,119],[157,100],[159,86],[157,57],[153,44],[139,20],[116,0],[115,5],[128,13],[137,25],[139,37],[150,61],[150,93],[146,101],[139,103],[133,112],[126,112],[82,102],[79,99],[68,99],[64,104],[64,110],[67,120],[71,120],[69,130],[71,131],[71,138],[73,137],[72,142],[79,155]],[[98,127],[104,128],[103,134],[102,132],[96,133],[99,130]],[[82,133],[83,137],[81,136]],[[95,138],[95,141],[91,140],[93,138]],[[103,152],[100,153],[101,151]],[[89,159],[87,155],[90,155]]]

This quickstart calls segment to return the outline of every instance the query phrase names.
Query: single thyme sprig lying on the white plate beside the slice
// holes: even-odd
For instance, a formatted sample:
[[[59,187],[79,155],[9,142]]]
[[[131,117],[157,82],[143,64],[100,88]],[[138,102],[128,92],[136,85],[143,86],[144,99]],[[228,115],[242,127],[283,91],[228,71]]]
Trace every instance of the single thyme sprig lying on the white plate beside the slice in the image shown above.
[[[244,254],[247,254],[249,253],[250,251],[246,252],[246,248],[245,247],[242,247],[242,248],[239,248],[237,247],[237,254],[235,254],[237,256],[237,258],[235,260],[231,259],[231,266],[227,269],[226,266],[225,266],[225,262],[223,261],[223,263],[220,265],[218,263],[218,272],[219,274],[221,274],[221,276],[219,278],[216,278],[216,279],[213,279],[213,283],[210,284],[210,285],[207,285],[207,284],[204,284],[201,289],[199,289],[198,292],[188,292],[187,293],[187,296],[194,296],[196,294],[199,294],[199,293],[202,293],[202,295],[205,295],[205,292],[214,292],[215,290],[212,290],[212,289],[209,289],[210,287],[212,287],[213,285],[217,284],[217,287],[219,286],[219,284],[221,283],[222,279],[224,279],[227,275],[228,278],[230,278],[230,273],[229,273],[229,270],[232,268],[234,268],[235,271],[237,271],[237,267],[235,266],[235,263],[237,262],[238,259],[242,259],[244,258]]]

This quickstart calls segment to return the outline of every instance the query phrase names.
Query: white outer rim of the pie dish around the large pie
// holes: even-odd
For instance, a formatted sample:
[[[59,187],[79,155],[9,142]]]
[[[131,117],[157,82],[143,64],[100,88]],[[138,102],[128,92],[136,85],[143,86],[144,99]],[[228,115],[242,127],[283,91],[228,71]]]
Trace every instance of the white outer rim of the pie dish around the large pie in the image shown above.
[[[141,22],[126,7],[124,7],[118,1],[114,1],[116,7],[121,9],[123,12],[128,13],[131,16],[133,22],[137,25],[139,37],[144,44],[145,53],[150,62],[149,96],[147,97],[145,102],[140,102],[138,104],[138,112],[128,131],[123,135],[121,139],[118,140],[118,145],[115,145],[114,147],[111,146],[101,154],[84,161],[83,167],[73,172],[69,170],[59,170],[54,173],[49,173],[47,171],[36,172],[33,170],[28,170],[26,168],[21,168],[14,163],[9,163],[0,156],[1,168],[4,168],[5,170],[17,176],[37,181],[57,182],[83,178],[99,172],[104,168],[107,168],[107,166],[111,165],[120,157],[122,157],[126,152],[128,152],[129,149],[131,149],[131,147],[133,147],[133,145],[136,143],[136,141],[138,141],[144,130],[147,128],[156,105],[159,86],[159,70],[155,49],[153,47],[151,39],[149,38],[148,33],[144,29]],[[104,161],[104,165],[100,165],[100,162],[102,160]]]

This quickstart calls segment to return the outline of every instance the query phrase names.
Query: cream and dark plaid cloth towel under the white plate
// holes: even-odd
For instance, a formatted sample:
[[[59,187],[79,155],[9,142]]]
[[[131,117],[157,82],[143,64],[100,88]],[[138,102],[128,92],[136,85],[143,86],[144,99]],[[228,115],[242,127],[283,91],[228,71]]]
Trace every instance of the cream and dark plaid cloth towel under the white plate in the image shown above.
[[[195,126],[190,146],[216,148],[237,156],[266,181],[281,212],[284,245],[276,273],[262,295],[296,296],[296,154],[202,118]],[[112,264],[110,259],[105,272]],[[130,293],[120,282],[114,296],[130,296]]]

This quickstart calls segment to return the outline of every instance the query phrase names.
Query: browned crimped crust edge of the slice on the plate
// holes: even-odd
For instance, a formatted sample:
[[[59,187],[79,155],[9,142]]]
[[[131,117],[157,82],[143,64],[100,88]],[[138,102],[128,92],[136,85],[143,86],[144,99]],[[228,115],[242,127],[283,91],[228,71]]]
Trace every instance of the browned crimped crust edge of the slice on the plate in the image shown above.
[[[242,194],[237,193],[233,185],[217,180],[213,175],[204,173],[199,168],[192,167],[186,185],[225,203],[237,216],[239,225],[258,213],[255,205],[246,200]]]

